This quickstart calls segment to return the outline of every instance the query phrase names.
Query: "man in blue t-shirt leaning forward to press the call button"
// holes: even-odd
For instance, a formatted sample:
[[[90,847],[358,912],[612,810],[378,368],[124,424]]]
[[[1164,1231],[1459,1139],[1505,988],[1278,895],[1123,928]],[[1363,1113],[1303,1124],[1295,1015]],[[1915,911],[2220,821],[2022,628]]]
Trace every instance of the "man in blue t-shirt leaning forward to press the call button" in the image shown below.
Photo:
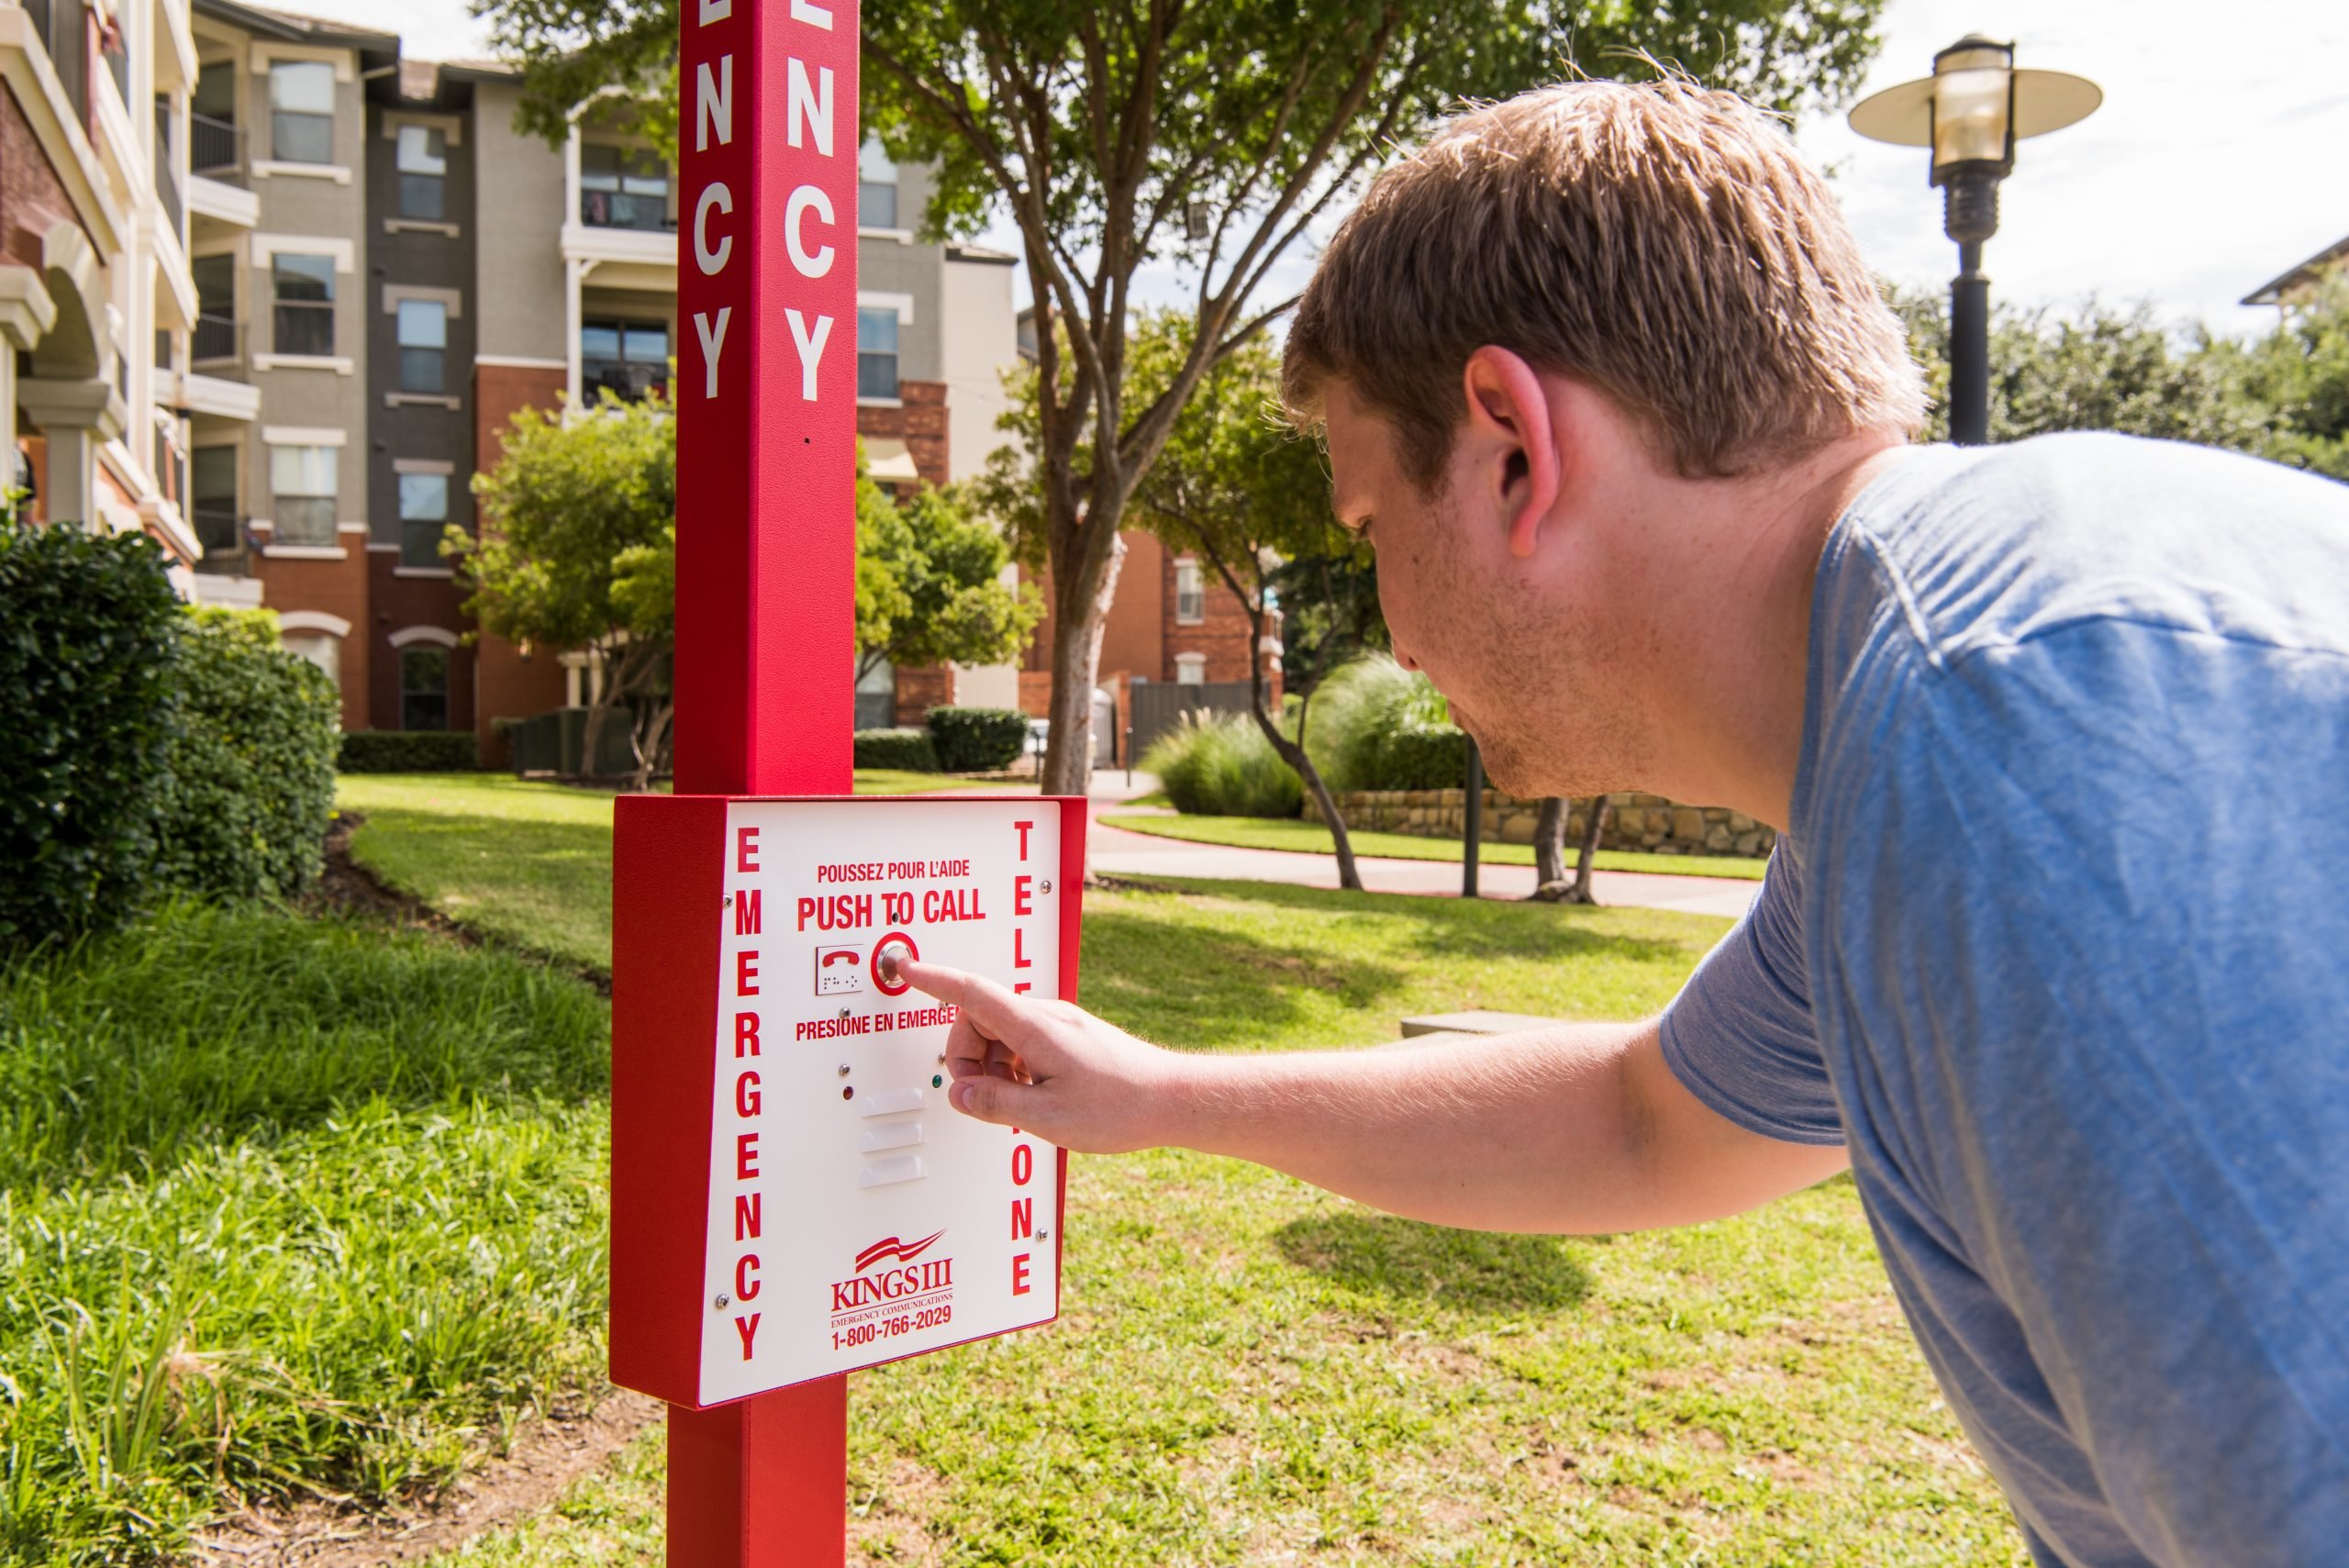
[[[1494,1230],[1849,1167],[2039,1561],[2349,1561],[2349,488],[1910,448],[1832,202],[1677,82],[1395,164],[1285,376],[1494,779],[1778,824],[1762,897],[1661,1019],[1440,1056],[1177,1056],[916,967],[954,1103]]]

